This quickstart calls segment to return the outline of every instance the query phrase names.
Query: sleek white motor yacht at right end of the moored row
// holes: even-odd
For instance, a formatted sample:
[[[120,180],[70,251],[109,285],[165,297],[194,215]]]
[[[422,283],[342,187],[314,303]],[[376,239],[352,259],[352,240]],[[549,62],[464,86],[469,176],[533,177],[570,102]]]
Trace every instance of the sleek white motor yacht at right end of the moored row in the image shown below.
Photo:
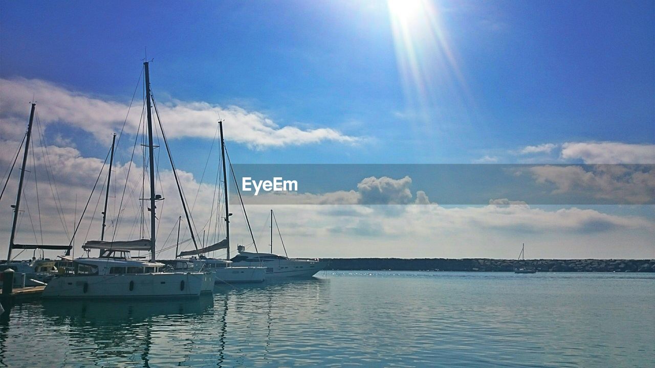
[[[322,270],[327,266],[326,261],[319,259],[290,259],[287,255],[278,255],[273,253],[273,220],[275,216],[271,210],[271,253],[259,253],[246,251],[246,247],[238,246],[238,255],[231,259],[235,264],[250,266],[250,265],[263,265],[266,267],[266,278],[307,278],[312,277],[316,272]],[[277,226],[277,220],[275,225]],[[280,240],[282,235],[280,234]],[[282,242],[284,246],[284,242]],[[284,249],[286,254],[286,248]]]

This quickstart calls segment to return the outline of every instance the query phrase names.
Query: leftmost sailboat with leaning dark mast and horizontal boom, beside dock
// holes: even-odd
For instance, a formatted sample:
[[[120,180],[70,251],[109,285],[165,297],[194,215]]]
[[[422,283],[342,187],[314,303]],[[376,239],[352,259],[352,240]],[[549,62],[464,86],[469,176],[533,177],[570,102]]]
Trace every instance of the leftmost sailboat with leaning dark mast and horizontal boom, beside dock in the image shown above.
[[[20,178],[18,179],[18,194],[16,194],[16,204],[12,206],[14,209],[14,216],[11,224],[11,233],[9,236],[9,249],[7,252],[7,262],[0,265],[0,271],[7,270],[8,268],[14,270],[14,287],[16,286],[36,286],[44,285],[54,277],[57,269],[54,267],[54,261],[49,259],[32,259],[31,261],[13,261],[11,258],[14,249],[50,249],[50,250],[66,250],[70,249],[70,244],[64,245],[46,245],[46,244],[16,244],[16,228],[18,225],[18,215],[20,213],[20,199],[23,193],[23,185],[26,173],[26,166],[28,164],[29,143],[32,136],[32,126],[34,124],[34,113],[36,110],[36,103],[31,104],[29,112],[28,130],[25,136],[25,147],[23,151],[23,161],[20,170]],[[9,180],[9,178],[8,178]],[[23,283],[23,280],[25,282]],[[0,283],[2,280],[0,280]]]

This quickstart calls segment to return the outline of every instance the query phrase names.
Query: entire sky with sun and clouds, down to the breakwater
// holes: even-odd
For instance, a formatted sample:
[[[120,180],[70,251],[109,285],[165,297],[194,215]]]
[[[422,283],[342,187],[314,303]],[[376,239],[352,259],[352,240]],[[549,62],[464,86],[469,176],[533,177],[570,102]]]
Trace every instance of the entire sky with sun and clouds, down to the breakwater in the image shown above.
[[[33,100],[41,134],[19,239],[69,241],[121,130],[108,215],[128,198],[138,217],[138,190],[121,190],[149,60],[198,233],[216,230],[214,137],[223,119],[234,164],[307,164],[302,176],[314,184],[322,180],[314,164],[353,165],[347,179],[328,175],[341,186],[274,206],[291,256],[513,258],[526,243],[528,257],[655,258],[654,9],[653,1],[4,2],[3,185]],[[181,210],[166,158],[158,160],[166,238]],[[133,161],[132,189],[143,168]],[[370,174],[367,164],[548,166],[526,168],[521,179],[535,188],[527,195],[491,190],[516,172],[485,177],[471,165],[477,174],[466,184],[479,185],[458,185],[402,165]],[[0,200],[4,247],[16,173]],[[479,198],[453,203],[469,191]],[[591,200],[561,200],[580,193]],[[94,195],[77,251],[98,232]],[[248,208],[260,246],[269,242],[269,208]],[[236,241],[250,244],[242,216],[233,221]],[[139,235],[134,223],[122,227],[121,236]]]

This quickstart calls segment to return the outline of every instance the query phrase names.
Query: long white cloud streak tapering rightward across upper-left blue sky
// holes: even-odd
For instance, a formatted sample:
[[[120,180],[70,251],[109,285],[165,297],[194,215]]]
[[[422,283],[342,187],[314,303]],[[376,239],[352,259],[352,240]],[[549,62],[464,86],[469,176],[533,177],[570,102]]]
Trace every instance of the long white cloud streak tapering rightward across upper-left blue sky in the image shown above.
[[[120,132],[128,112],[128,104],[68,90],[37,79],[0,79],[0,133],[4,139],[15,138],[24,130],[29,115],[28,102],[36,96],[39,119],[44,124],[64,122],[91,132],[107,141],[113,132]],[[214,137],[217,119],[225,120],[226,139],[263,149],[286,145],[305,145],[323,141],[356,143],[360,138],[346,136],[331,128],[301,129],[278,126],[257,111],[238,106],[221,107],[202,101],[157,101],[162,124],[170,138]],[[126,132],[134,134],[139,126],[140,104],[132,105]],[[6,125],[18,124],[9,128]],[[7,136],[5,136],[7,134]]]

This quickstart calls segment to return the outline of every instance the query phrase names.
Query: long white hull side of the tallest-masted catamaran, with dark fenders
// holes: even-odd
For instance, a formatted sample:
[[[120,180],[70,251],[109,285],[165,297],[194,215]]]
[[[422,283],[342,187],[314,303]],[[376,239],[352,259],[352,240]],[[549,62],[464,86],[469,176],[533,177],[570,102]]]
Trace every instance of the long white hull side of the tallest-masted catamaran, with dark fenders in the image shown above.
[[[62,276],[48,283],[43,290],[43,297],[53,299],[198,297],[203,283],[207,282],[207,277],[204,273]]]

